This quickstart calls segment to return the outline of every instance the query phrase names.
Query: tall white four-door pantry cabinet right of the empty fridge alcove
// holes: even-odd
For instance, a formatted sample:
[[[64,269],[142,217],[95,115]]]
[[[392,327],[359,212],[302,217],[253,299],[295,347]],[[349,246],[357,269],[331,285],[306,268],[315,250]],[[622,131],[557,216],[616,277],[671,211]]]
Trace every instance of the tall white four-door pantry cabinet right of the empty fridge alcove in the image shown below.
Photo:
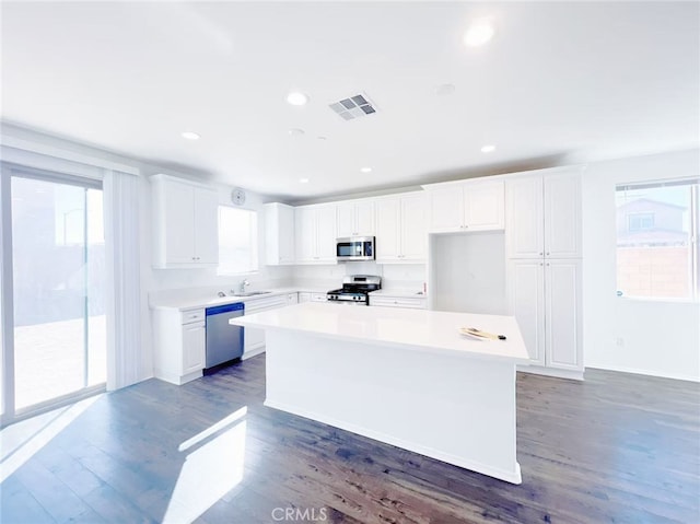
[[[511,177],[505,196],[510,307],[527,371],[582,379],[581,168]]]

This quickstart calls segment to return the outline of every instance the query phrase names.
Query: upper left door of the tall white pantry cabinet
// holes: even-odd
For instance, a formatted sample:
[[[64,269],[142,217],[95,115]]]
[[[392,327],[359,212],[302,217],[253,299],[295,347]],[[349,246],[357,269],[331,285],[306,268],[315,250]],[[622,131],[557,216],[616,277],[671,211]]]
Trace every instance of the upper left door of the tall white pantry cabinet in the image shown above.
[[[541,258],[545,225],[541,177],[508,182],[505,223],[510,258]]]

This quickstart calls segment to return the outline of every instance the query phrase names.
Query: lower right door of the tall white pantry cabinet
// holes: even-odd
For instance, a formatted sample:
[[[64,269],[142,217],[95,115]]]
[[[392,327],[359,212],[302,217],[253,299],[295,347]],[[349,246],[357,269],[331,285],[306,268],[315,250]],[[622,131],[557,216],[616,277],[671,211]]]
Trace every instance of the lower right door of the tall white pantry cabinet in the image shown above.
[[[581,260],[546,260],[546,363],[551,368],[582,370]]]

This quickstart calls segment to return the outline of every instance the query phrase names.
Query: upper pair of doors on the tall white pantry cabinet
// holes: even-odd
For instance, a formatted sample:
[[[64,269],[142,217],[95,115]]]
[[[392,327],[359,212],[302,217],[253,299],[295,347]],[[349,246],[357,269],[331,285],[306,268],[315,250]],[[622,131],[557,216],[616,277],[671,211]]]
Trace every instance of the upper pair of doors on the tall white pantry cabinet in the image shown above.
[[[568,168],[506,187],[510,258],[581,258],[581,175]]]

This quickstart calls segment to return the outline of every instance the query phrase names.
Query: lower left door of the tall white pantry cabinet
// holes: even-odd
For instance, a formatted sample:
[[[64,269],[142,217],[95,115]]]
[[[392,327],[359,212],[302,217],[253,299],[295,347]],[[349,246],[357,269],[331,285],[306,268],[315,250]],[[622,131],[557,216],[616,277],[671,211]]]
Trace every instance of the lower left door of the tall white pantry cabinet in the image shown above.
[[[545,268],[541,260],[511,260],[511,313],[533,364],[545,365]]]

